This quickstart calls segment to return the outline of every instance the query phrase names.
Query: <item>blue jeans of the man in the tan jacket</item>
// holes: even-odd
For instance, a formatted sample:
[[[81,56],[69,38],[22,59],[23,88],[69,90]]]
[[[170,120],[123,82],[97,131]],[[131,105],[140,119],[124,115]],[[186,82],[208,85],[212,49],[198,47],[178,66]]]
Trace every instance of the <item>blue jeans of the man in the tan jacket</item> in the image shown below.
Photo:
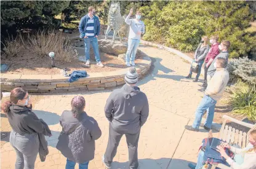
[[[196,119],[192,125],[193,128],[199,128],[204,112],[207,111],[206,127],[210,128],[212,126],[212,121],[214,120],[214,109],[216,100],[212,99],[210,96],[204,95],[201,102],[199,103],[198,108],[196,109]]]

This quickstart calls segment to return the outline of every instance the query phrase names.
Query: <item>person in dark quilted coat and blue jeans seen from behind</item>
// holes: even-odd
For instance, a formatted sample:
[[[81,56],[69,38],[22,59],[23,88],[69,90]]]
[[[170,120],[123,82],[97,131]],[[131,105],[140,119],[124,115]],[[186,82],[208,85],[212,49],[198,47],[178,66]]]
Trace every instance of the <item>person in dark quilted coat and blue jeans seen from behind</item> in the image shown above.
[[[96,120],[86,114],[86,100],[75,96],[71,101],[71,111],[64,111],[60,117],[62,132],[56,148],[66,159],[66,169],[87,169],[89,161],[94,159],[95,140],[100,138],[102,131]]]

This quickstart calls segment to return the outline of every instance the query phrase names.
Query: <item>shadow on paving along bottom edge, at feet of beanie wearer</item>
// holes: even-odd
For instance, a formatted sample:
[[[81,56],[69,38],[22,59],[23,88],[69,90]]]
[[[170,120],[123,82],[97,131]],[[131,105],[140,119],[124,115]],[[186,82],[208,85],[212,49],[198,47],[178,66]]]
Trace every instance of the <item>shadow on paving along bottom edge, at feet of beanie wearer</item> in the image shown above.
[[[128,154],[127,154],[128,158]],[[179,169],[179,168],[188,168],[187,160],[182,159],[138,159],[140,169]],[[195,163],[193,163],[196,165]],[[111,164],[113,169],[127,169],[129,168],[129,162],[113,162]]]

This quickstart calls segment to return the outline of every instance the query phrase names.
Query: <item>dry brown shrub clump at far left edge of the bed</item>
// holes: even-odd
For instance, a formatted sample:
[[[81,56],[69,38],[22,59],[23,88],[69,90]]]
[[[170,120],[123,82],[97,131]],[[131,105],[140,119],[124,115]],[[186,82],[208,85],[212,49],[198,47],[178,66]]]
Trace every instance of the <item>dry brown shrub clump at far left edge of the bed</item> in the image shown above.
[[[16,57],[20,50],[24,48],[23,44],[23,37],[19,33],[15,38],[14,36],[9,36],[8,39],[6,39],[4,42],[2,42],[2,45],[4,45],[4,56],[5,57]]]

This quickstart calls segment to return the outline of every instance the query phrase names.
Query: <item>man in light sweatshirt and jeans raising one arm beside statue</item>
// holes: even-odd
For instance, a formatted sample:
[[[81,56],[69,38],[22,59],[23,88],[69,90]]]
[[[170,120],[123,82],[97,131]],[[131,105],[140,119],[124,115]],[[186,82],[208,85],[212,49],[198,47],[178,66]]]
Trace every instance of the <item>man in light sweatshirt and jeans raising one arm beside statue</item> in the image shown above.
[[[126,53],[126,66],[135,66],[134,60],[135,55],[138,49],[138,45],[140,44],[140,37],[145,33],[145,25],[144,22],[140,20],[142,17],[142,12],[137,10],[136,18],[129,19],[130,15],[132,15],[133,8],[130,9],[129,15],[126,17],[125,22],[130,25],[129,31],[129,39],[128,39],[128,49]]]

